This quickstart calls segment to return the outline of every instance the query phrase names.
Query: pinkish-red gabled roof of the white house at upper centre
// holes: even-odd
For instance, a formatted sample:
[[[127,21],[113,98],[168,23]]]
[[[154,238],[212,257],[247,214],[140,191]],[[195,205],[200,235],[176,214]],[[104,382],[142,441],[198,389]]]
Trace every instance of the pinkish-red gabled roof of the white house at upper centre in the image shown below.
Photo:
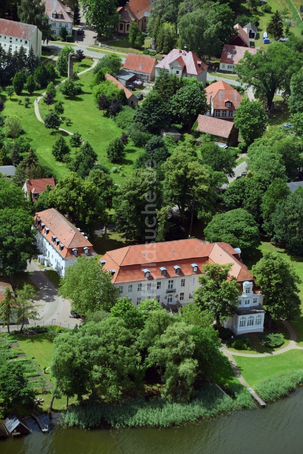
[[[181,49],[173,49],[169,54],[157,64],[157,68],[169,70],[169,65],[174,61],[178,61],[183,67],[183,72],[187,74],[200,74],[208,65],[204,63],[194,52],[187,52]]]

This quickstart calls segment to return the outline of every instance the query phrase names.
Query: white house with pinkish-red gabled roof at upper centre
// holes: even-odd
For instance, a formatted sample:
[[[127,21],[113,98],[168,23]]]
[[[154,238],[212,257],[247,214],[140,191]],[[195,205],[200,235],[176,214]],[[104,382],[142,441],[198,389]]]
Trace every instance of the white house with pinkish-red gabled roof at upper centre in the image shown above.
[[[173,49],[156,65],[156,77],[161,71],[167,71],[179,77],[195,77],[199,82],[203,82],[205,87],[207,68],[208,65],[194,52]]]

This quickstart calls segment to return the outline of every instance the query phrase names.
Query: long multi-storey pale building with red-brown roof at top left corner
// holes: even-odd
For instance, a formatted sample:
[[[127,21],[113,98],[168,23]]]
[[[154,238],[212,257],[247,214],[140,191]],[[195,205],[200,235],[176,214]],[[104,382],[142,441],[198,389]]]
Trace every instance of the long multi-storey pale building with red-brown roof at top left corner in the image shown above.
[[[14,20],[0,19],[0,45],[8,52],[19,51],[23,46],[26,54],[33,48],[36,57],[41,57],[42,33],[36,25],[15,22]]]

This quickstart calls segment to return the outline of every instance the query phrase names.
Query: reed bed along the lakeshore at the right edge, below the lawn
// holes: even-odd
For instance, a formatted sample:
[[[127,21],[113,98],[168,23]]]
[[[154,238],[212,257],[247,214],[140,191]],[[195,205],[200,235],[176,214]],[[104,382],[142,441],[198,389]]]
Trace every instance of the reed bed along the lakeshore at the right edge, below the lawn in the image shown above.
[[[261,380],[256,385],[258,395],[265,402],[273,402],[290,394],[297,385],[303,384],[303,370],[287,370],[270,378]]]

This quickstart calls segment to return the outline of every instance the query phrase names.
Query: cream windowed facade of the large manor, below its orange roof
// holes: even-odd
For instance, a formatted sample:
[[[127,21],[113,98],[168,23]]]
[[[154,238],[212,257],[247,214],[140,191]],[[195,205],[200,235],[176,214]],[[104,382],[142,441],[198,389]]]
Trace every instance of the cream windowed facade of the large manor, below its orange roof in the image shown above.
[[[144,273],[142,273],[143,275]],[[161,279],[143,278],[142,281],[114,284],[120,290],[120,296],[128,296],[137,306],[140,301],[155,298],[160,306],[166,304],[186,305],[193,301],[194,291],[199,287],[199,275],[170,276]]]

